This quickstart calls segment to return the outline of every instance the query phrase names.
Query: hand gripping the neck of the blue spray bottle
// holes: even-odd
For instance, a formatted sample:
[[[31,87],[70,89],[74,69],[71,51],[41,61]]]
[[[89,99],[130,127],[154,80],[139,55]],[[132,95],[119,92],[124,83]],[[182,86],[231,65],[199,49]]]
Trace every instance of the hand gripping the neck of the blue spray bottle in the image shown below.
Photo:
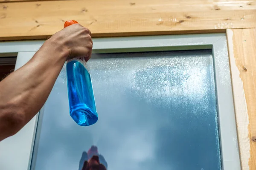
[[[58,49],[67,51],[67,58],[85,58],[88,61],[92,54],[93,40],[89,29],[80,24],[70,25],[53,34],[49,40]]]

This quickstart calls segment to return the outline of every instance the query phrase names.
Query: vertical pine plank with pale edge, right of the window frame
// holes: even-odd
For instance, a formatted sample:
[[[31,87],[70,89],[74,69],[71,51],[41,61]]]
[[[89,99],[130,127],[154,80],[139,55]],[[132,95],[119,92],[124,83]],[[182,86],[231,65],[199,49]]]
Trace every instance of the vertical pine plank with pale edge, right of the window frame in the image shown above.
[[[256,28],[227,30],[242,170],[256,170]]]

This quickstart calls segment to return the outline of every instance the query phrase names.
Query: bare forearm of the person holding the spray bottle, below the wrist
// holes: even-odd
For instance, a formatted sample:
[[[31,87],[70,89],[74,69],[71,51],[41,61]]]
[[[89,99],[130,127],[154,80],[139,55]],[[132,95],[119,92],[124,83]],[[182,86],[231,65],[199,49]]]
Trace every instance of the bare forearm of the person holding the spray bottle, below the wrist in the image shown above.
[[[17,133],[46,102],[69,55],[53,43],[45,43],[26,65],[0,82],[0,141]]]

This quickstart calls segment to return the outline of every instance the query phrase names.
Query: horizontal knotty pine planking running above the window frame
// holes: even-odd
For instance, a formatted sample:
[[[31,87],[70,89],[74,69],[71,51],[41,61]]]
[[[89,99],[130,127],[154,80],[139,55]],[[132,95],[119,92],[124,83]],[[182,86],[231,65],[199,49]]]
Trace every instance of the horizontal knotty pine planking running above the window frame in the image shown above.
[[[48,38],[70,19],[89,28],[93,37],[210,33],[256,27],[254,1],[59,0],[0,6],[0,40]]]

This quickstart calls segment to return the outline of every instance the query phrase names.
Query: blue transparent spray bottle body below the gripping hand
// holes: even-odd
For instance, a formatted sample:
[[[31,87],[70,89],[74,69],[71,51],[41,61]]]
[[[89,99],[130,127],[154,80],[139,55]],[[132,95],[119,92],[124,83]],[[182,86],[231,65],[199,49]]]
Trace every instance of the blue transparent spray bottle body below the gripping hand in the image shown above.
[[[90,73],[84,59],[67,61],[67,90],[70,116],[81,126],[97,122],[98,113]]]

